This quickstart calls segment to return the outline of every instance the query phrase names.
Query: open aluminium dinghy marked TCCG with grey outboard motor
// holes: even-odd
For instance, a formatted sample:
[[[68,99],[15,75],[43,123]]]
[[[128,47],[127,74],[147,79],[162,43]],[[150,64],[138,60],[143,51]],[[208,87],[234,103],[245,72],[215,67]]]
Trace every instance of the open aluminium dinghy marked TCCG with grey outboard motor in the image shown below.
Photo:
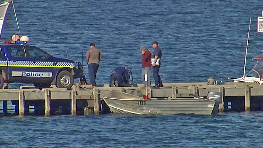
[[[110,111],[120,114],[217,114],[222,94],[209,92],[206,98],[143,99],[125,92],[109,91],[102,99]]]

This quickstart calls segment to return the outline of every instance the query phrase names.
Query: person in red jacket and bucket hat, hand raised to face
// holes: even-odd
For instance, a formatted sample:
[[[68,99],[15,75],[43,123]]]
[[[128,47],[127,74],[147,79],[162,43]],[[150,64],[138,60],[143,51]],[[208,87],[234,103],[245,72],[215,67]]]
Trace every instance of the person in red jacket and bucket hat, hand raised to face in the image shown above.
[[[145,74],[147,70],[147,86],[151,85],[151,52],[146,48],[146,46],[141,46],[141,52],[142,52],[142,80],[143,85],[146,87],[146,81],[145,81]]]

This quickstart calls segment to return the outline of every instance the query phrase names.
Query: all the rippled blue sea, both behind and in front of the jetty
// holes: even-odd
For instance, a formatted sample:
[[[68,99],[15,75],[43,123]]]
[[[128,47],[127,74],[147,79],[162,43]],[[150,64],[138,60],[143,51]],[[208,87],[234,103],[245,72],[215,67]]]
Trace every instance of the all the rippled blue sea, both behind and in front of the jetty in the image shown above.
[[[262,54],[256,32],[261,0],[15,1],[21,34],[52,55],[82,61],[90,42],[102,50],[97,83],[128,66],[142,83],[140,45],[163,50],[164,83],[226,81],[243,75],[249,19],[247,70]],[[13,9],[2,39],[18,33]],[[85,59],[85,58],[83,58]],[[88,70],[85,61],[85,75]],[[11,84],[10,88],[19,88]],[[262,112],[213,116],[0,117],[0,147],[263,147]]]

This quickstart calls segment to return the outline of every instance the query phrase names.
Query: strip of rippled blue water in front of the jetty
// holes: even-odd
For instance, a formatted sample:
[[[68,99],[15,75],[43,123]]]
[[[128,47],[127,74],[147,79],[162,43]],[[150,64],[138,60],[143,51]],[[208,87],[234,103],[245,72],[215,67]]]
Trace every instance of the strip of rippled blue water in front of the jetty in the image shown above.
[[[1,118],[0,147],[262,147],[261,113]]]

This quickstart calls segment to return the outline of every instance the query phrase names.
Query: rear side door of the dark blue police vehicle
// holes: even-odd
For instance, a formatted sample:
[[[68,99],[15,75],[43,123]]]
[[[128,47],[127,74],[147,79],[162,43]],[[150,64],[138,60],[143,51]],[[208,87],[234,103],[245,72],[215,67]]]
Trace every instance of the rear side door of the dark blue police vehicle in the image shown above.
[[[30,72],[31,62],[26,57],[26,51],[23,45],[5,46],[7,51],[8,76],[9,82],[24,82],[29,83],[31,77]]]

